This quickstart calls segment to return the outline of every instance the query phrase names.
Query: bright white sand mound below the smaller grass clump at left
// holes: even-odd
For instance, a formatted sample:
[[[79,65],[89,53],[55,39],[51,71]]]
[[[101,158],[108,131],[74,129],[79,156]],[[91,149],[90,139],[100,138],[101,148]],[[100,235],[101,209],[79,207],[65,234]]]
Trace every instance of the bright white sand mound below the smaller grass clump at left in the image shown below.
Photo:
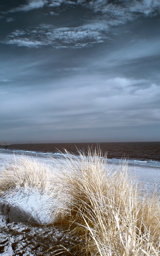
[[[28,222],[47,225],[52,222],[53,200],[34,189],[4,193],[0,199],[0,214],[4,222]]]

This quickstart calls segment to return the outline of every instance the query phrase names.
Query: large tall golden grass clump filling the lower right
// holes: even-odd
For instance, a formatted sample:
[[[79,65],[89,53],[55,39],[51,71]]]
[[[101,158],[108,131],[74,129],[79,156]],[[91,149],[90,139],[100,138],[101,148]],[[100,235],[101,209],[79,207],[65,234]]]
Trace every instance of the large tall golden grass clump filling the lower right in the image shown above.
[[[79,159],[65,159],[61,184],[70,209],[61,214],[71,232],[83,235],[84,255],[158,256],[159,200],[142,195],[127,174],[107,168],[100,152]]]

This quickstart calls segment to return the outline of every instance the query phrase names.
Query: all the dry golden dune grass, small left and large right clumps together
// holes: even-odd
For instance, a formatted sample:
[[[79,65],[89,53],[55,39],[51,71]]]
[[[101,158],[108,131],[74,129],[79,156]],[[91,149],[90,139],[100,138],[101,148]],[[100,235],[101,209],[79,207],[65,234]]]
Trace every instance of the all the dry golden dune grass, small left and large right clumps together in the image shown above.
[[[35,160],[21,159],[1,172],[0,189],[32,187],[56,196],[61,204],[53,215],[84,237],[82,255],[159,255],[159,200],[141,194],[125,164],[113,172],[100,152],[90,151],[63,162],[55,163],[54,175]]]

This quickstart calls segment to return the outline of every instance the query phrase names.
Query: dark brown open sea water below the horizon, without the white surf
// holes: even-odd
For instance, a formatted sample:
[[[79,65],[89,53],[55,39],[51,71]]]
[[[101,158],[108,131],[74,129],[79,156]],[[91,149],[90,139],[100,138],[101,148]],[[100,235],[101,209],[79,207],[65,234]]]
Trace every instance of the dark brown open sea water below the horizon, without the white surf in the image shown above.
[[[103,154],[107,152],[108,158],[127,158],[156,160],[160,161],[160,142],[100,142],[100,143],[40,143],[40,144],[11,144],[8,146],[0,146],[5,150],[12,149],[14,152],[19,150],[32,151],[34,153],[57,153],[59,150],[64,152],[64,148],[78,155],[77,148],[88,151],[88,147],[100,147]],[[58,153],[57,153],[58,154]]]

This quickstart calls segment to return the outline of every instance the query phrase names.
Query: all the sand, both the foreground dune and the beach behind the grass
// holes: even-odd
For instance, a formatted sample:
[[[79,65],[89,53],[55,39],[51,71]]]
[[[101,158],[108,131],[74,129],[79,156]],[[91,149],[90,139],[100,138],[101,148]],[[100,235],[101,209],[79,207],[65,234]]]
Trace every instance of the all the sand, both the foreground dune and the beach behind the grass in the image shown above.
[[[51,155],[42,154],[42,152],[17,152],[17,150],[16,152],[11,152],[9,150],[1,150],[0,169],[3,170],[7,165],[10,166],[13,160],[19,161],[19,158],[28,161],[28,157],[31,161],[36,159],[38,163],[50,166],[51,170],[54,170],[56,164],[63,166],[65,165],[65,159],[71,161],[72,158],[75,161],[79,156],[72,155],[69,158],[69,155],[62,155],[60,153]],[[106,169],[114,173],[116,170],[121,169],[122,163],[121,159],[116,159],[116,161],[115,159],[109,159]],[[157,195],[159,194],[159,166],[145,166],[145,162],[143,165],[136,164],[135,166],[130,162],[127,172],[134,182],[138,182],[138,188],[141,189],[143,194],[148,193],[151,195],[154,190]],[[23,255],[28,256],[51,255],[50,253],[54,251],[52,248],[61,250],[61,246],[66,248],[64,254],[62,251],[61,255],[69,255],[67,253],[70,250],[72,255],[77,255],[77,251],[74,251],[72,247],[79,243],[85,244],[81,236],[69,236],[65,231],[66,228],[61,225],[55,224],[52,227],[51,224],[54,222],[54,218],[52,217],[51,209],[56,209],[57,204],[60,204],[55,198],[51,200],[50,196],[47,196],[45,193],[42,194],[33,188],[27,190],[20,188],[12,192],[9,191],[9,194],[8,192],[4,194],[5,196],[0,198],[0,241],[3,244],[0,245],[0,255],[17,255],[16,253],[24,253]],[[39,248],[37,248],[37,243],[40,245]]]

